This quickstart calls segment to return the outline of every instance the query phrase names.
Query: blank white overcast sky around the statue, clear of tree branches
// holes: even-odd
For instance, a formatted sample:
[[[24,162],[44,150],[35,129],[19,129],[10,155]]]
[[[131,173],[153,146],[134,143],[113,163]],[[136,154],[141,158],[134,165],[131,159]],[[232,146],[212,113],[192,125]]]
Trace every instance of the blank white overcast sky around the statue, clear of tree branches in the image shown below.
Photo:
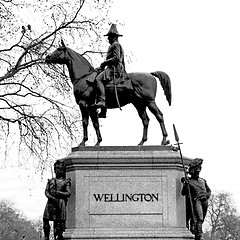
[[[171,143],[175,143],[175,124],[183,155],[203,158],[202,177],[213,191],[232,194],[240,211],[239,13],[239,0],[117,0],[109,20],[124,23],[117,27],[123,34],[119,42],[126,58],[131,57],[128,72],[169,75],[172,106],[160,85],[156,101]],[[146,144],[159,145],[160,127],[151,113],[149,117]],[[132,106],[108,111],[101,125],[102,145],[137,145],[141,140],[141,120]],[[90,132],[94,137],[94,131]],[[6,191],[1,185],[1,193],[17,202],[27,216],[41,216],[50,172],[42,180],[24,169],[11,174],[15,178],[10,181],[6,170],[1,171],[0,181],[11,186]]]

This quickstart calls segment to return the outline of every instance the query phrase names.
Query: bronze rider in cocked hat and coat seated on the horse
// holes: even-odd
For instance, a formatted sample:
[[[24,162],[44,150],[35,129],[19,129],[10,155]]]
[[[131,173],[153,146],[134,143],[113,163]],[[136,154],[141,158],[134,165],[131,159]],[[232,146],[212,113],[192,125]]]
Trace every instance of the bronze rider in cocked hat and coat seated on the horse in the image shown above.
[[[124,63],[124,52],[121,44],[118,42],[119,34],[115,24],[112,24],[108,33],[110,46],[107,51],[106,60],[100,65],[102,72],[96,78],[96,87],[99,91],[96,108],[106,108],[106,95],[104,84],[110,82],[113,78],[124,79],[126,74]],[[106,68],[105,68],[106,67]]]

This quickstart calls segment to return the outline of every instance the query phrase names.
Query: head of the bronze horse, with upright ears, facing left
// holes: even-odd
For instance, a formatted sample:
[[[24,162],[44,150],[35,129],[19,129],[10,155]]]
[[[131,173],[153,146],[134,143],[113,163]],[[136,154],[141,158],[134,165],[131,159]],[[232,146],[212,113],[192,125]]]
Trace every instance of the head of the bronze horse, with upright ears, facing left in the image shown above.
[[[46,56],[46,63],[67,63],[67,47],[62,41],[62,46],[58,47],[53,53]]]

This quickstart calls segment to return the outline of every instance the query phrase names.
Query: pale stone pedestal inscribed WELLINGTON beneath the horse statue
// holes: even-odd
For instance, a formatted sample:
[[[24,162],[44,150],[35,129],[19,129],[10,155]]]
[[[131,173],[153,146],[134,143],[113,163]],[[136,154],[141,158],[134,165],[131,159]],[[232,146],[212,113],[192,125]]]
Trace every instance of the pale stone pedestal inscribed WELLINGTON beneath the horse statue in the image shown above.
[[[182,162],[171,147],[82,147],[65,161],[72,180],[65,239],[193,239]]]

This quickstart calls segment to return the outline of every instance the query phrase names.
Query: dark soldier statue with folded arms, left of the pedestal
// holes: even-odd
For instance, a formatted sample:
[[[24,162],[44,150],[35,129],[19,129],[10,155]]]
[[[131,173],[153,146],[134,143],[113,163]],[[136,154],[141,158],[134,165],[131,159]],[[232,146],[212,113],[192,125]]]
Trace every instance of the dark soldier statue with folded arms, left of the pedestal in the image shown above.
[[[49,221],[53,221],[54,239],[63,240],[66,222],[66,205],[71,194],[71,180],[66,178],[66,166],[63,160],[57,160],[54,163],[54,172],[56,177],[48,180],[45,189],[45,195],[48,198],[43,214],[45,240],[49,240]]]

